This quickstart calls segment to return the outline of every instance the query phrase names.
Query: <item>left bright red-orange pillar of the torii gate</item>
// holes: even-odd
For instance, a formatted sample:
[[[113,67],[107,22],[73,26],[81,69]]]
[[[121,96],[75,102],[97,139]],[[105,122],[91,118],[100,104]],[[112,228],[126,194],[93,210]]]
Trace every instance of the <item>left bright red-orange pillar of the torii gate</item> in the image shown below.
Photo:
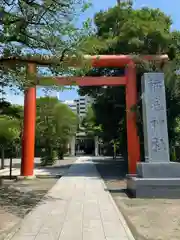
[[[36,65],[28,64],[29,79],[36,74]],[[21,176],[31,177],[34,174],[34,145],[36,124],[36,87],[29,87],[24,93],[24,127],[22,136]]]

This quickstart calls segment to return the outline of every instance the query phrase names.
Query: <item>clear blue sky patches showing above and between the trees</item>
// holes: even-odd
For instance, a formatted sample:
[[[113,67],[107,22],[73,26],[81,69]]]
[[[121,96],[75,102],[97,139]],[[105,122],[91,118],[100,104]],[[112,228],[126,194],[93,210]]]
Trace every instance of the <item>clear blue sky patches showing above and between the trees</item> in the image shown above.
[[[91,0],[93,6],[91,9],[88,9],[86,13],[80,18],[80,22],[86,20],[87,18],[92,18],[93,15],[100,11],[108,9],[116,4],[116,0]],[[134,7],[141,8],[141,7],[151,7],[151,8],[160,8],[163,12],[170,15],[173,20],[173,29],[180,30],[180,0],[134,0]],[[43,92],[41,89],[37,90],[37,96],[42,96]],[[56,93],[54,93],[56,96]],[[60,99],[61,100],[72,100],[77,97],[76,90],[65,90],[60,92]],[[11,92],[8,92],[8,100],[15,104],[23,104],[23,95],[14,95]]]

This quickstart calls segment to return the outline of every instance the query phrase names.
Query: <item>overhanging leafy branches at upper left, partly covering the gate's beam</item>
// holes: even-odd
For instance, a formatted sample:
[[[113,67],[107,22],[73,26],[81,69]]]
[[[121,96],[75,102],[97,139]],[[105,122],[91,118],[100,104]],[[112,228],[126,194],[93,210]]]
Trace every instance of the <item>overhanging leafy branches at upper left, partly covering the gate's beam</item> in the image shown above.
[[[1,85],[20,89],[32,84],[26,78],[27,62],[44,64],[48,54],[54,60],[49,69],[54,73],[67,72],[64,56],[82,54],[85,39],[91,28],[89,21],[83,27],[76,25],[80,14],[89,7],[85,0],[18,0],[0,2]],[[89,45],[89,47],[92,47]],[[30,55],[34,56],[30,60]],[[35,57],[36,56],[36,57]],[[5,61],[8,57],[19,61]]]

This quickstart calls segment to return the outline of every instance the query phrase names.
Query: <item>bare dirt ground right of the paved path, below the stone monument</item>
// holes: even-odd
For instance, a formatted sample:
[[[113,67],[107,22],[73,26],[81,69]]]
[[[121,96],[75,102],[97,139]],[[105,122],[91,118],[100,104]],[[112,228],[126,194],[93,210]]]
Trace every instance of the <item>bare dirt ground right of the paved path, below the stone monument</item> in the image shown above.
[[[135,199],[126,195],[122,160],[94,161],[136,240],[179,240],[180,200]]]

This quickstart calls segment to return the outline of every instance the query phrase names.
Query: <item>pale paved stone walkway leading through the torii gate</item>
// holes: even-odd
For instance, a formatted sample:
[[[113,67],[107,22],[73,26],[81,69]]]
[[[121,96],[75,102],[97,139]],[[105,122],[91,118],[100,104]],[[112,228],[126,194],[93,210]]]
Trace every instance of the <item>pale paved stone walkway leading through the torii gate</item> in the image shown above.
[[[90,158],[80,157],[11,240],[134,240]]]

